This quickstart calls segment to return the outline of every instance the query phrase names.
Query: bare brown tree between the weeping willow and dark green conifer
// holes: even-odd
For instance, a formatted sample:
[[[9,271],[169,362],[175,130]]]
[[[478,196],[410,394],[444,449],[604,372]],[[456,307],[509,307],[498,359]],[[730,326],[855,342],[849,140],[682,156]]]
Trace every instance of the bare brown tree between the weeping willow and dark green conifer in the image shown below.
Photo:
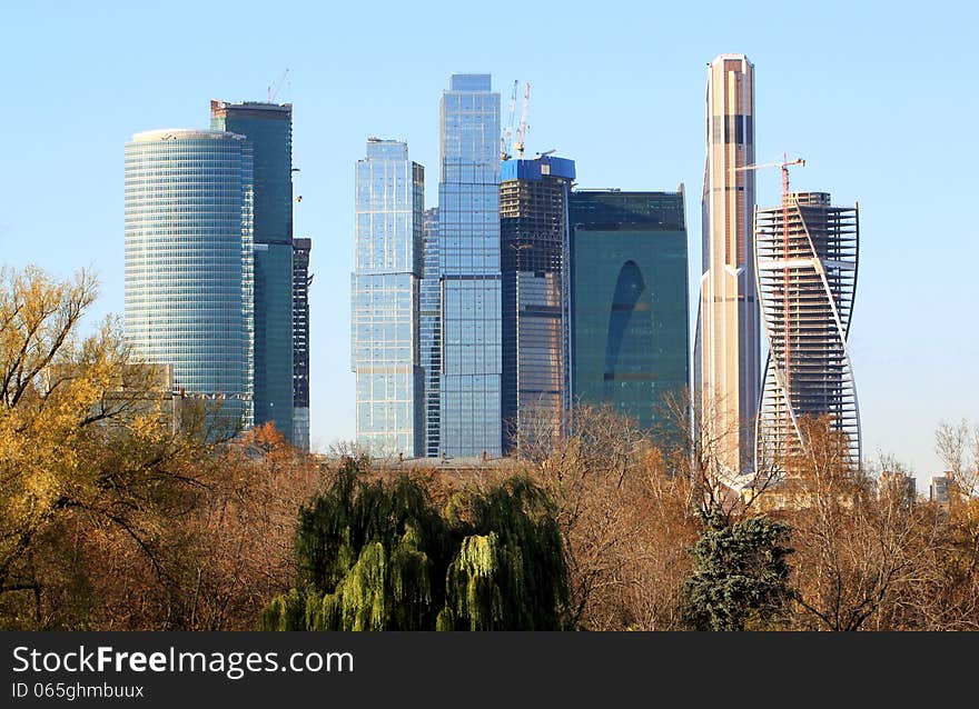
[[[690,478],[668,466],[672,438],[641,430],[611,407],[578,405],[572,418],[571,436],[524,465],[556,507],[573,622],[679,628],[685,548],[698,521]]]

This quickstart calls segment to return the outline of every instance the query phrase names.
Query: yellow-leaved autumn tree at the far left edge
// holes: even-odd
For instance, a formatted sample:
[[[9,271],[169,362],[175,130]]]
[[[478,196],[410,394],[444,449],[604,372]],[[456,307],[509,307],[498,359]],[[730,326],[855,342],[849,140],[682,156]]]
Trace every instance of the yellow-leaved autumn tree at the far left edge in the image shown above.
[[[89,598],[81,540],[118,533],[157,573],[161,530],[205,449],[165,420],[154,368],[118,320],[83,337],[98,293],[80,271],[0,272],[0,618],[77,627]]]

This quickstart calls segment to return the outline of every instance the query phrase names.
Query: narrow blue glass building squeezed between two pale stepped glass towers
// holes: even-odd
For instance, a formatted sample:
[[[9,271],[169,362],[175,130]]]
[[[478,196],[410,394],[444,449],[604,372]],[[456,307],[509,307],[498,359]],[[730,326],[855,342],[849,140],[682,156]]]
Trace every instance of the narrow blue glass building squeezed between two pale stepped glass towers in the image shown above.
[[[426,209],[422,216],[422,287],[418,317],[422,346],[422,369],[425,370],[425,448],[428,458],[439,452],[442,377],[442,279],[438,276],[438,208]]]

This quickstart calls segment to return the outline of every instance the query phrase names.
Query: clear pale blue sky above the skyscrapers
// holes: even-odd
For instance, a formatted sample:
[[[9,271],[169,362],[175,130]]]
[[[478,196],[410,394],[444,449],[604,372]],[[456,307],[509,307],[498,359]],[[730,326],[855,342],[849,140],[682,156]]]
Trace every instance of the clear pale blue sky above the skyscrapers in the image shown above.
[[[354,435],[349,271],[354,162],[400,138],[437,201],[438,97],[491,72],[507,110],[532,84],[528,153],[577,161],[582,187],[685,183],[700,264],[705,64],[755,64],[756,157],[803,157],[793,189],[859,200],[851,331],[864,452],[919,487],[942,419],[979,419],[979,161],[973,3],[9,3],[0,16],[2,261],[101,276],[122,311],[122,146],[206,127],[211,98],[294,103],[296,234],[314,238],[313,442]],[[777,170],[759,203],[779,200]],[[691,311],[693,314],[693,311]]]

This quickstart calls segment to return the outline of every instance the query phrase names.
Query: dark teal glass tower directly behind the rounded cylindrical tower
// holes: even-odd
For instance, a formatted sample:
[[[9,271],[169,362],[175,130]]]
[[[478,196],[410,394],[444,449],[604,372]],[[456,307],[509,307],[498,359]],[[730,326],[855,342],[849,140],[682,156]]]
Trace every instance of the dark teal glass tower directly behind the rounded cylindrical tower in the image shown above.
[[[293,107],[211,101],[210,116],[212,129],[245,136],[254,153],[255,423],[294,441]]]

